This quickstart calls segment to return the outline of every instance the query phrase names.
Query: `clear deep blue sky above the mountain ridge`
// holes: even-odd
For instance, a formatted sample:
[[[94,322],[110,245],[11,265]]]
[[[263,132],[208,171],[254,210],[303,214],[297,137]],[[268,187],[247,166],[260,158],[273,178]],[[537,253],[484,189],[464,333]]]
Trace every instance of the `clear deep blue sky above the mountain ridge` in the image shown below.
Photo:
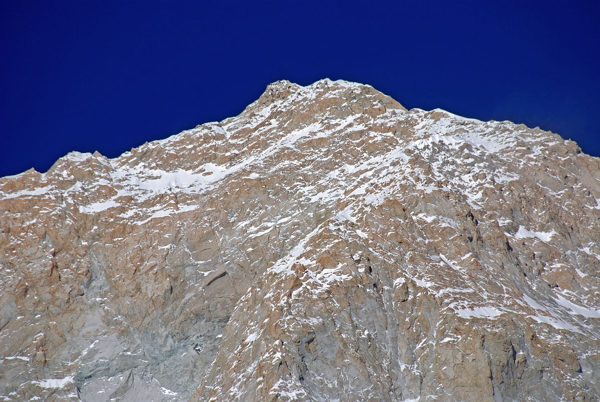
[[[0,0],[0,175],[115,157],[326,77],[600,155],[600,2],[320,3]]]

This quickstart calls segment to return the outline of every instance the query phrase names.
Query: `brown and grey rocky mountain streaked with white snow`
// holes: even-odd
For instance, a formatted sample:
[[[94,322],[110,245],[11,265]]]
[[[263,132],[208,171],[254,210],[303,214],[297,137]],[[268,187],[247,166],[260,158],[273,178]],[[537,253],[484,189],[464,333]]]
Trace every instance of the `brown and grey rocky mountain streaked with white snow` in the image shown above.
[[[3,401],[595,401],[600,160],[368,85],[0,179]]]

